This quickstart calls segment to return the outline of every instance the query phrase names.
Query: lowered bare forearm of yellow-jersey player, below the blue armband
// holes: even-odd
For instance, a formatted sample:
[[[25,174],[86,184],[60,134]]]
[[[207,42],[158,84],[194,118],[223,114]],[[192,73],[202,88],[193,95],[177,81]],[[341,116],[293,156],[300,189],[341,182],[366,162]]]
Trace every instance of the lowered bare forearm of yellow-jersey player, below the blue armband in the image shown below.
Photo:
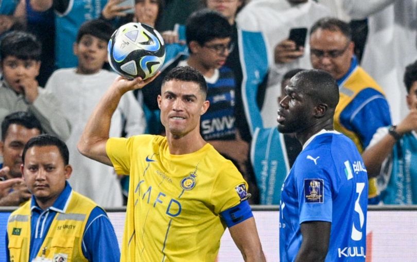
[[[230,227],[229,232],[245,261],[266,261],[253,217]]]

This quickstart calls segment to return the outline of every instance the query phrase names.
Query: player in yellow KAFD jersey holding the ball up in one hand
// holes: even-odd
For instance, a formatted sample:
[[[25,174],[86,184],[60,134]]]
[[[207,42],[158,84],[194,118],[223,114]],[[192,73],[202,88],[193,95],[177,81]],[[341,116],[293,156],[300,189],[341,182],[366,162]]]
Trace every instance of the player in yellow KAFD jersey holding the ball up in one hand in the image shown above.
[[[200,72],[185,66],[166,74],[158,96],[166,137],[108,137],[121,95],[154,78],[117,78],[78,143],[85,156],[130,175],[121,260],[215,261],[228,227],[246,261],[265,261],[246,181],[200,135],[209,106]]]

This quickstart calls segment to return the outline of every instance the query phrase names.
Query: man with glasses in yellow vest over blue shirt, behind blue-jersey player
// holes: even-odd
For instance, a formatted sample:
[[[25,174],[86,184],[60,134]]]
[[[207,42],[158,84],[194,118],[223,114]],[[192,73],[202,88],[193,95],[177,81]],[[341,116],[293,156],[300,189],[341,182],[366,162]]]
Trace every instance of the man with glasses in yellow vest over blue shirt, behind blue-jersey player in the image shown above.
[[[391,116],[384,91],[358,65],[353,49],[349,25],[337,18],[322,18],[310,29],[312,66],[330,73],[339,85],[335,129],[362,152],[379,127],[391,125]],[[369,181],[369,198],[378,202],[375,178]]]

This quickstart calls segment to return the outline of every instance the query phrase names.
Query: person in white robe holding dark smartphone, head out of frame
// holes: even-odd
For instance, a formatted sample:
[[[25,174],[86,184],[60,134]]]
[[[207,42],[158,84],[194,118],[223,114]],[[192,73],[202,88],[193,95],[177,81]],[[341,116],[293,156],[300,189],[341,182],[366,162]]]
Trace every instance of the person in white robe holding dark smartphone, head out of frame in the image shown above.
[[[265,127],[273,127],[276,119],[271,111],[277,110],[276,97],[284,74],[295,68],[311,68],[306,47],[297,47],[290,39],[293,28],[309,28],[330,10],[313,0],[259,0],[251,1],[237,15],[237,25],[248,31],[261,31],[269,50],[273,51],[273,63],[269,73],[268,88],[262,106]],[[308,34],[307,34],[308,37]]]

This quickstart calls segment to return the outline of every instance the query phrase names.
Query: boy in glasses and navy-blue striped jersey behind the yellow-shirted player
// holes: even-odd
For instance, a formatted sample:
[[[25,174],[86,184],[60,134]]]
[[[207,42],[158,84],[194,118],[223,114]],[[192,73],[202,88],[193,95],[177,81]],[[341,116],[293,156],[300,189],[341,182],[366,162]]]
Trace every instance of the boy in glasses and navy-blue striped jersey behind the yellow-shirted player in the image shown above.
[[[144,101],[151,109],[157,109],[157,95],[165,74],[176,66],[190,66],[203,74],[207,82],[207,100],[210,107],[201,116],[200,132],[204,140],[217,151],[238,163],[246,172],[249,144],[241,139],[236,126],[236,81],[233,70],[224,66],[234,43],[231,43],[232,27],[226,17],[217,11],[203,9],[194,12],[186,24],[186,51],[174,58],[170,54],[177,45],[167,45],[167,57],[160,76],[142,89]]]

